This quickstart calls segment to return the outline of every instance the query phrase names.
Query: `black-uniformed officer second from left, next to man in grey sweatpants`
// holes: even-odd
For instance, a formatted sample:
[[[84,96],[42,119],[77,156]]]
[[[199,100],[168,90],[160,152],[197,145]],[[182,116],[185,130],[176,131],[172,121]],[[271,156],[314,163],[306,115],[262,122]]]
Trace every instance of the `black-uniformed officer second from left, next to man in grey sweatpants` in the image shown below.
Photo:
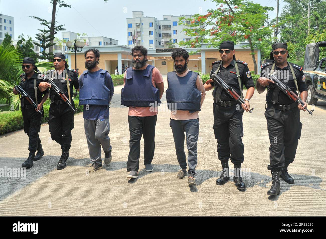
[[[49,71],[46,81],[52,81],[67,96],[75,108],[73,96],[73,87],[79,91],[78,77],[76,71],[67,69],[66,57],[62,53],[56,53],[53,57],[53,65],[55,71]],[[46,81],[40,84],[40,89],[48,88],[51,85]],[[69,87],[69,90],[68,90]],[[51,138],[61,145],[62,155],[60,157],[57,169],[66,167],[66,161],[69,157],[69,149],[71,146],[71,130],[74,128],[74,111],[65,103],[54,90],[50,90],[50,109],[49,109],[49,129]]]

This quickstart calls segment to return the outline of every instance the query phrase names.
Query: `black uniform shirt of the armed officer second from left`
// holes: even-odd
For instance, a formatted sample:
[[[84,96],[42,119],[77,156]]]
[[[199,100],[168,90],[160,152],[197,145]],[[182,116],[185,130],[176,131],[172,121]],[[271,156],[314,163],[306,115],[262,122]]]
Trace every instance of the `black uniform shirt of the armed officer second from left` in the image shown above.
[[[67,69],[67,72],[68,72],[68,81],[69,81],[69,84],[70,84],[70,86],[69,86],[70,97],[72,97],[73,94],[74,94],[73,86],[75,87],[75,89],[79,89],[78,76],[76,74],[76,71],[73,70],[73,69]],[[63,73],[61,73],[60,76],[55,74],[55,73],[56,73],[55,70],[48,71],[47,72],[47,77],[44,80],[47,81],[53,76],[54,76],[54,78],[58,78],[58,79],[52,79],[52,81],[55,83],[56,86],[58,86],[59,89],[61,89],[63,91],[63,93],[69,99],[68,88],[67,88],[67,80],[62,79],[63,78]],[[51,100],[62,100],[61,97],[58,96],[55,93],[54,90],[51,90],[51,88],[50,88],[50,99]],[[71,101],[73,101],[73,100],[71,100]],[[71,103],[73,103],[73,102],[71,102]]]

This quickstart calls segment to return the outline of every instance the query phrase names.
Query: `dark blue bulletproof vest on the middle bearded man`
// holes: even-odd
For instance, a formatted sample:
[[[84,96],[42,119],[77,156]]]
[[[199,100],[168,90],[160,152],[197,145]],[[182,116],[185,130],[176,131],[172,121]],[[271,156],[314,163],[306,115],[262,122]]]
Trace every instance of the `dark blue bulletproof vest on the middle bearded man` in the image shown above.
[[[154,66],[148,65],[144,70],[133,70],[129,67],[126,72],[126,84],[121,89],[121,104],[124,106],[150,107],[160,105],[160,91],[152,83]]]

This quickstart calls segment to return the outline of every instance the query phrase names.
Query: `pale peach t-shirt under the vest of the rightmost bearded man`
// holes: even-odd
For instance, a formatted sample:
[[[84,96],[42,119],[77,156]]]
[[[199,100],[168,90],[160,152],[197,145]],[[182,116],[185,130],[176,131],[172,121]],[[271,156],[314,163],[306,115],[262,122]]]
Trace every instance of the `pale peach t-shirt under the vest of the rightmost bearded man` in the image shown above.
[[[185,71],[185,73],[183,73],[183,74],[177,73],[177,75],[180,77],[184,77],[184,76],[186,76],[186,74],[188,74],[188,72],[189,72],[189,70],[187,69]],[[205,93],[205,88],[204,88],[203,82],[199,75],[197,76],[196,87],[201,92],[201,99],[200,99],[200,107],[201,107],[201,105],[204,102],[206,93]],[[194,113],[189,113],[189,111],[187,111],[187,110],[176,110],[175,112],[171,111],[170,118],[175,119],[175,120],[198,119],[199,118],[198,112],[199,111],[196,111]]]

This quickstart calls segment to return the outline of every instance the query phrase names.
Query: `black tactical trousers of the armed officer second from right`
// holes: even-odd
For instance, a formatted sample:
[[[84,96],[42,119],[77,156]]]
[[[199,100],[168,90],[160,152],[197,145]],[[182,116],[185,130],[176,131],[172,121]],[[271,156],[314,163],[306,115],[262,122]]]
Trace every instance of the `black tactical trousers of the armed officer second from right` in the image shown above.
[[[243,163],[244,144],[241,137],[244,136],[242,126],[244,110],[240,104],[223,107],[214,103],[213,111],[218,159],[228,161],[230,158],[233,164]]]

